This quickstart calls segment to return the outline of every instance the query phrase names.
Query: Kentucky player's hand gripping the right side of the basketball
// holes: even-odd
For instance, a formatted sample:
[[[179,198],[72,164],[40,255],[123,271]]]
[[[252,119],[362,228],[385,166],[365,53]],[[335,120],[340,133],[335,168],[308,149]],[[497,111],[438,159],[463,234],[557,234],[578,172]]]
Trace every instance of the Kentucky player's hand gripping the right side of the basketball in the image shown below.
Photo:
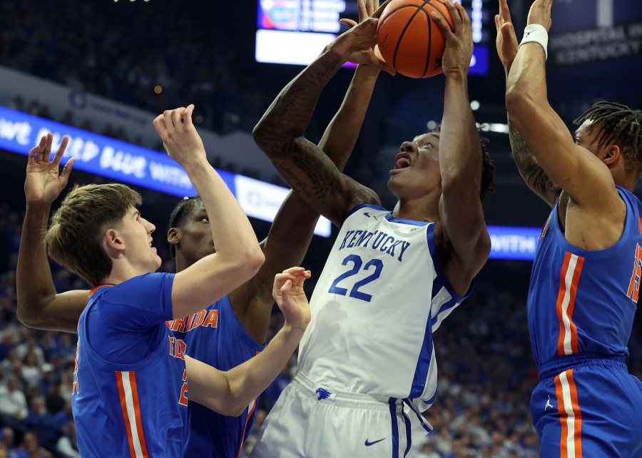
[[[437,24],[446,39],[442,69],[446,76],[451,73],[467,75],[473,51],[471,21],[461,4],[453,4],[450,0],[446,0],[444,3],[450,10],[454,30],[437,12],[432,11],[431,14],[432,20]]]

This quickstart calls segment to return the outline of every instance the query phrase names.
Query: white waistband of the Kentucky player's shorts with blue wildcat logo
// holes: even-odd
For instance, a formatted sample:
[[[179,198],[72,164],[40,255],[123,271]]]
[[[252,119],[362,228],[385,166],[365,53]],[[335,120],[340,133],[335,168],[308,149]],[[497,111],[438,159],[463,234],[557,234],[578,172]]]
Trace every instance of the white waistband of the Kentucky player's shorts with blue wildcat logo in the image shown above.
[[[337,406],[390,412],[391,404],[396,404],[396,409],[403,409],[403,400],[397,399],[396,397],[337,391],[323,383],[313,382],[301,372],[296,373],[292,379],[292,385],[314,400],[319,402],[332,402],[332,404]]]

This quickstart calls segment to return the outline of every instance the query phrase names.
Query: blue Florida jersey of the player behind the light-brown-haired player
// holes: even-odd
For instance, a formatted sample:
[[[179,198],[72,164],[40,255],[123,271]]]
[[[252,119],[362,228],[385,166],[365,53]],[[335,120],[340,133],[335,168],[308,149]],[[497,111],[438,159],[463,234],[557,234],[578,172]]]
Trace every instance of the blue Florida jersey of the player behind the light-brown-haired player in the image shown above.
[[[167,325],[177,339],[185,342],[187,355],[223,371],[249,360],[264,348],[245,332],[228,296]],[[239,417],[228,417],[190,402],[185,457],[238,457],[254,422],[255,407],[253,402]]]

